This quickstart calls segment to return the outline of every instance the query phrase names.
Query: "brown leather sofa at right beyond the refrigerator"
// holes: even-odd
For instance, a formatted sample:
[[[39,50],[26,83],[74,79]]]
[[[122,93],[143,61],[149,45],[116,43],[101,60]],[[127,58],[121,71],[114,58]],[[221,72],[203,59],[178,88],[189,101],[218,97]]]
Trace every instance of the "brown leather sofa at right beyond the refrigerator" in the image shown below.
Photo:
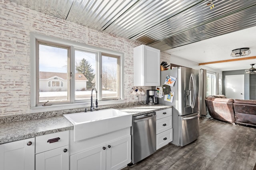
[[[214,119],[256,126],[256,100],[233,100],[224,95],[212,95],[207,96],[205,102]]]

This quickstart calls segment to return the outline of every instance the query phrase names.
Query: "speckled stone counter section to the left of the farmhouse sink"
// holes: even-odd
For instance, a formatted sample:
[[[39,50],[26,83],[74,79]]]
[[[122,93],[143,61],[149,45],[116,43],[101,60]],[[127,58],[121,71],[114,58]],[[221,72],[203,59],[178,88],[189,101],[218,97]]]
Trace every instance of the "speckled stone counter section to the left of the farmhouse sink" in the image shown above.
[[[62,115],[44,119],[0,123],[0,144],[70,129],[73,129],[73,125]]]

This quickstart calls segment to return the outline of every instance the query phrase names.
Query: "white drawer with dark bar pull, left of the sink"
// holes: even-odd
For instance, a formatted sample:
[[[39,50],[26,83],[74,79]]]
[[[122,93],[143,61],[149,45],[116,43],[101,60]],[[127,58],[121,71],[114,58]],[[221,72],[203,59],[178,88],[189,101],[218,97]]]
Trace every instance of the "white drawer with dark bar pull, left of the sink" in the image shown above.
[[[36,154],[68,145],[69,131],[62,131],[36,137]]]

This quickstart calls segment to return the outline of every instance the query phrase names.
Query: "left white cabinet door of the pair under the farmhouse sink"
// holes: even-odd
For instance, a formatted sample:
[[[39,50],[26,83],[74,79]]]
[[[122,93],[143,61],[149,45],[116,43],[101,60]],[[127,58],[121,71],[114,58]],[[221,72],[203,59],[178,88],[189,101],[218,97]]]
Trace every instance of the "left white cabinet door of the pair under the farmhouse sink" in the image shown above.
[[[85,150],[70,156],[70,170],[84,169],[106,169],[106,145]]]

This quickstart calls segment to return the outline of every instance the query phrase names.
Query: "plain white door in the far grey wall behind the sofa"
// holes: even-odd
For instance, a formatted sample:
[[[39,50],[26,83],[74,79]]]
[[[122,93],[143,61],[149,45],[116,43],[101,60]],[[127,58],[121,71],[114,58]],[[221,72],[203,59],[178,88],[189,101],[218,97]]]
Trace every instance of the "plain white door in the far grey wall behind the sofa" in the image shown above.
[[[226,76],[226,97],[244,100],[244,74]]]

